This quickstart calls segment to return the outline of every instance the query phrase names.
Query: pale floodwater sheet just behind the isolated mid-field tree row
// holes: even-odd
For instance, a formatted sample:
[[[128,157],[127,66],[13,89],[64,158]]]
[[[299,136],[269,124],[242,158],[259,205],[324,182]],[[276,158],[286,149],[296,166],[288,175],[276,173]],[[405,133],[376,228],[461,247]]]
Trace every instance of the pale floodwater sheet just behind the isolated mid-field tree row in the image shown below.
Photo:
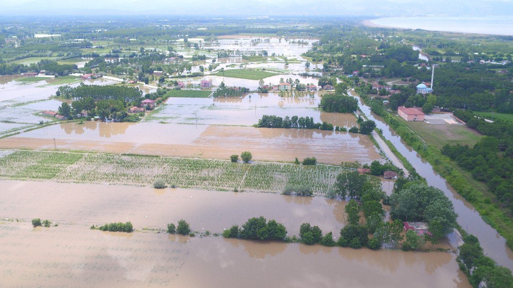
[[[277,93],[251,93],[230,98],[169,98],[165,105],[151,115],[152,122],[176,124],[245,125],[258,124],[263,115],[312,117],[315,122],[326,121],[350,128],[356,125],[352,114],[320,112],[318,94],[280,97]]]

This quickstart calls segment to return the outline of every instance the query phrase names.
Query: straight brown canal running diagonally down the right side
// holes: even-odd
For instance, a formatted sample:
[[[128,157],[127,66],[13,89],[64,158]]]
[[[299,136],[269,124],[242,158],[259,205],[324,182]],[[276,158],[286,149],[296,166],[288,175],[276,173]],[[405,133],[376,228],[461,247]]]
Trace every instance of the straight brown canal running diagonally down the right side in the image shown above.
[[[406,144],[401,140],[401,137],[397,135],[380,117],[373,114],[368,106],[362,104],[360,97],[353,93],[354,92],[350,91],[350,94],[358,99],[358,106],[365,116],[375,121],[377,128],[383,131],[385,139],[393,143],[399,153],[406,157],[413,168],[417,170],[417,173],[426,178],[427,183],[430,186],[442,190],[445,195],[449,197],[454,205],[456,213],[458,213],[458,223],[465,231],[479,238],[479,242],[481,243],[485,255],[497,261],[498,264],[513,270],[513,252],[506,246],[506,239],[500,236],[494,228],[485,223],[479,215],[479,212],[476,211],[476,209],[473,208],[473,206],[456,191],[454,191],[445,179],[433,170],[431,164],[422,159],[415,150],[406,146]]]

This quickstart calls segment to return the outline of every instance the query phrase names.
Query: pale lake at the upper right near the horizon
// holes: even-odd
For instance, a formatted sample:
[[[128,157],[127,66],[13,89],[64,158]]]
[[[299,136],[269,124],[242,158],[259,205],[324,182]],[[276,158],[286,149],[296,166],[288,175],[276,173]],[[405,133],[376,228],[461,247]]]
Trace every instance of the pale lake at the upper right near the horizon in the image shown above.
[[[513,16],[386,17],[369,20],[366,24],[404,29],[513,35]]]

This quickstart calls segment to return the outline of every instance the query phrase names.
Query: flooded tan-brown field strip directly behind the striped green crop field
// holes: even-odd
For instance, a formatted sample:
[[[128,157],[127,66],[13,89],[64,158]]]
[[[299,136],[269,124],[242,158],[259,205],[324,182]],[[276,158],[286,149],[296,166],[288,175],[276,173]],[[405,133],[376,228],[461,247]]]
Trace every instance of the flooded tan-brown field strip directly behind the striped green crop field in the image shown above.
[[[55,138],[55,141],[53,140]],[[273,129],[155,123],[66,123],[0,139],[0,148],[93,150],[227,159],[251,151],[254,160],[316,157],[321,163],[382,160],[365,135],[310,129]]]

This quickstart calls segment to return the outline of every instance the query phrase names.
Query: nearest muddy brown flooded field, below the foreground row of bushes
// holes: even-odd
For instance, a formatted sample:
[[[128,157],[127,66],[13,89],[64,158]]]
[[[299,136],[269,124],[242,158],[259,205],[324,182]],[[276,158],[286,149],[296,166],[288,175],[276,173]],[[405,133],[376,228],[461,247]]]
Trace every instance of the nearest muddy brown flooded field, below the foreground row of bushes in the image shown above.
[[[455,255],[0,224],[9,285],[469,287]],[[344,284],[341,284],[344,283]]]

